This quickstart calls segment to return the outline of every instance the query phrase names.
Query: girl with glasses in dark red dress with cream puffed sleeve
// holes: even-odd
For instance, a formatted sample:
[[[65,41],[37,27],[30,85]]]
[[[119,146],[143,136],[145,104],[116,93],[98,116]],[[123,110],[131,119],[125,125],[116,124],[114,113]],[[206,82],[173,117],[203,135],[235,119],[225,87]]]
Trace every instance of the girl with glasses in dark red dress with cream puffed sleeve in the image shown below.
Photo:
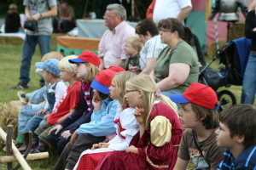
[[[125,99],[136,108],[140,131],[131,139],[130,147],[109,152],[96,169],[172,169],[183,135],[177,106],[160,94],[154,80],[145,74],[126,82]]]

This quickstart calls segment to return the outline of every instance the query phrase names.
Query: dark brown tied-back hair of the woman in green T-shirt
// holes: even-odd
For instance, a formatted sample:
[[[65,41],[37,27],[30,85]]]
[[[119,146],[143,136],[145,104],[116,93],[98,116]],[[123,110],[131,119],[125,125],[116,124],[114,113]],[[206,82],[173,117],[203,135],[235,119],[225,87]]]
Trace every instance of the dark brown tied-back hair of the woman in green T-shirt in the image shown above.
[[[177,31],[177,34],[180,38],[182,38],[185,42],[188,42],[189,45],[193,43],[193,34],[188,26],[183,26],[182,23],[174,18],[168,18],[165,20],[160,20],[159,25],[160,28],[170,29],[171,32]]]

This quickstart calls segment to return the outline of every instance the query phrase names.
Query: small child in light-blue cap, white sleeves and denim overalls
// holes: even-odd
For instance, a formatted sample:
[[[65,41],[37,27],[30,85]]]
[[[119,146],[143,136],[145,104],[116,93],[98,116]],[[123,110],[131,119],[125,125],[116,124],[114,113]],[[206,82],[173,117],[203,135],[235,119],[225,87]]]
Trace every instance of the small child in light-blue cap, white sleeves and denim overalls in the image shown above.
[[[49,82],[47,91],[47,100],[45,105],[25,105],[19,113],[18,136],[16,138],[16,147],[18,150],[26,150],[24,143],[25,134],[32,131],[32,125],[38,127],[39,123],[46,117],[57,105],[61,96],[66,92],[67,86],[60,81],[60,72],[58,68],[58,59],[47,59],[44,62],[36,63],[38,69],[44,70],[44,80]],[[32,122],[32,116],[38,115],[38,122]],[[45,118],[46,119],[46,118]],[[45,122],[45,121],[44,121]],[[38,140],[33,140],[32,144],[37,144]]]

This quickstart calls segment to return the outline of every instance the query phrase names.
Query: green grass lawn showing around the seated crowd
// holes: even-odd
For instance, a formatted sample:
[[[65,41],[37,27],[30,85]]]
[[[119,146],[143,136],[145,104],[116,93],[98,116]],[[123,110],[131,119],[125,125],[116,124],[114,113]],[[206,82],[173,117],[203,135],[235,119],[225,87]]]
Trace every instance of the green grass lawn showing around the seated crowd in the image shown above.
[[[15,89],[9,89],[13,87],[19,82],[19,71],[20,71],[20,59],[21,59],[21,45],[1,45],[0,46],[0,103],[9,103],[11,100],[17,100],[17,91]],[[51,46],[51,51],[54,51],[56,48],[55,45]],[[31,82],[29,82],[29,89],[24,90],[25,92],[32,92],[39,88],[39,77],[36,75],[36,67],[34,66],[35,62],[39,62],[41,59],[38,48],[36,49],[36,53],[32,58],[32,67],[30,72]],[[207,62],[211,59],[207,59]],[[218,69],[218,60],[212,63],[212,68]],[[222,90],[225,88],[219,88]],[[241,87],[232,86],[227,88],[232,91],[236,95],[237,103],[240,103],[241,96]],[[4,155],[5,153],[0,153],[0,155]],[[49,159],[44,159],[41,161],[28,161],[29,165],[32,169],[35,170],[46,170],[51,169],[55,164],[57,159],[56,156],[49,154]],[[192,169],[193,166],[189,165],[188,169]],[[7,169],[6,164],[0,164],[0,170]]]

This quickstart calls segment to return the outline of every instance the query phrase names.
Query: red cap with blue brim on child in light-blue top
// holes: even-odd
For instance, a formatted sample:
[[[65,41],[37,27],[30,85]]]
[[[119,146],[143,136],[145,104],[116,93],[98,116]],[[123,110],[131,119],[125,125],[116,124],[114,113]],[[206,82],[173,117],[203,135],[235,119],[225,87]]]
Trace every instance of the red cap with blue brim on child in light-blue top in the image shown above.
[[[116,73],[116,71],[109,69],[99,71],[95,79],[91,82],[90,87],[102,92],[102,94],[109,94],[108,88],[111,86],[113,75]]]

